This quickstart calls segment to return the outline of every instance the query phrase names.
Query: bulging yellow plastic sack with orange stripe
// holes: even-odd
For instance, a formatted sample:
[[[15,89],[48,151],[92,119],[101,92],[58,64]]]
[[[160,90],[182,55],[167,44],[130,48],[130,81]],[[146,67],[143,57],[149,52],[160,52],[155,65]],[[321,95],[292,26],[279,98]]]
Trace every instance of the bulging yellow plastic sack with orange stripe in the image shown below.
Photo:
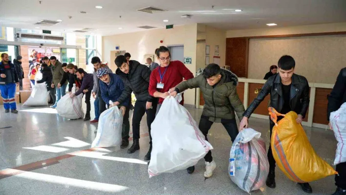
[[[280,114],[270,107],[269,114],[275,126],[270,145],[276,163],[292,181],[305,183],[337,172],[318,156],[306,137],[302,125],[297,124],[297,113]],[[278,116],[284,116],[277,123]]]

